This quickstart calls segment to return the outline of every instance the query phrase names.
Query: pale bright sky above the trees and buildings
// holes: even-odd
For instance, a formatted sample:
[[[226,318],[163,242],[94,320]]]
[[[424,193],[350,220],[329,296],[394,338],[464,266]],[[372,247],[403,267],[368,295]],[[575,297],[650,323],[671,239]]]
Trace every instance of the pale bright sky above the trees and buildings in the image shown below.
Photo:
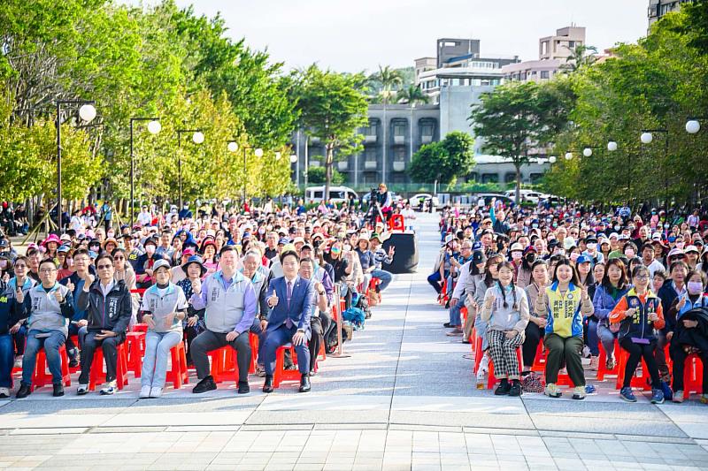
[[[137,1],[129,3],[137,4]],[[146,4],[154,4],[150,0]],[[483,55],[537,58],[538,39],[575,23],[602,50],[646,34],[648,0],[176,0],[217,11],[229,34],[286,67],[339,72],[403,67],[435,56],[439,37],[481,40]]]

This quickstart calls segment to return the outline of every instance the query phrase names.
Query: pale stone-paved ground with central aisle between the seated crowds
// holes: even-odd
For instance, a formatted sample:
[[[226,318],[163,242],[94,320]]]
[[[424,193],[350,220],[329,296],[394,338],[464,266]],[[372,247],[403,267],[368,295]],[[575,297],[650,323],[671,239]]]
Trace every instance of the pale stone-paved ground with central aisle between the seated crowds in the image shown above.
[[[235,384],[137,399],[48,387],[0,403],[0,467],[51,469],[706,469],[708,406],[627,404],[614,377],[585,401],[477,390],[469,346],[445,336],[426,277],[437,217],[419,218],[419,272],[399,275],[366,330],[327,358],[312,392]],[[569,394],[566,394],[569,397]]]

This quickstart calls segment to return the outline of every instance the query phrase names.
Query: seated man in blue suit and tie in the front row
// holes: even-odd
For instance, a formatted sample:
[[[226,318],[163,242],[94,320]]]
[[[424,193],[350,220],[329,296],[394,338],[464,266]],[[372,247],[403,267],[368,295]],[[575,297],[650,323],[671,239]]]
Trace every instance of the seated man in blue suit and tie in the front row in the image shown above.
[[[268,285],[266,346],[263,355],[266,362],[266,383],[263,392],[273,392],[273,368],[275,352],[280,346],[292,343],[297,353],[297,368],[300,370],[300,392],[310,391],[310,312],[315,302],[315,288],[310,280],[298,275],[300,260],[295,247],[285,248],[280,256],[283,277],[271,280]]]

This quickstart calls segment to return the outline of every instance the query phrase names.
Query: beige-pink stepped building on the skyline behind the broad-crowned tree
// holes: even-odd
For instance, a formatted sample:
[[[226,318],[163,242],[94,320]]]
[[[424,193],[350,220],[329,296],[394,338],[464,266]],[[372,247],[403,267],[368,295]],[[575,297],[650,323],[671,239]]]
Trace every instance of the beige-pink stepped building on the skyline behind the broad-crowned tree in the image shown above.
[[[574,49],[585,44],[584,27],[562,27],[554,36],[538,40],[538,60],[529,60],[504,65],[504,80],[545,81],[550,80],[567,63]]]

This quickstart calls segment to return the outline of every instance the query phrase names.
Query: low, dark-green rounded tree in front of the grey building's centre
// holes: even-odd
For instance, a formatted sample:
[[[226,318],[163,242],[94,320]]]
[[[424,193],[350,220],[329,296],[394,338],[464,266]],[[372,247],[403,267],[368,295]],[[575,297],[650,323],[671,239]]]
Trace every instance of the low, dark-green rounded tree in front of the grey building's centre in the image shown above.
[[[450,183],[466,176],[474,167],[474,139],[467,133],[453,131],[443,141],[419,148],[413,155],[409,175],[415,181]]]

